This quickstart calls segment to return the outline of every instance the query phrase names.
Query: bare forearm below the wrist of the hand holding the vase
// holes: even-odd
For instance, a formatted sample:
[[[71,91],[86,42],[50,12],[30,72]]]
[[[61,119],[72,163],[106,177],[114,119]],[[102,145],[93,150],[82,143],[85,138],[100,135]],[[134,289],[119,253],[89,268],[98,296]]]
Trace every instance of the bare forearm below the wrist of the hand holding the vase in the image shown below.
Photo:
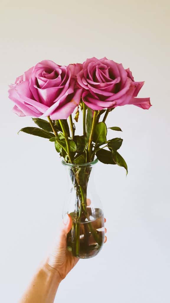
[[[41,265],[19,303],[53,303],[61,278],[47,263]]]

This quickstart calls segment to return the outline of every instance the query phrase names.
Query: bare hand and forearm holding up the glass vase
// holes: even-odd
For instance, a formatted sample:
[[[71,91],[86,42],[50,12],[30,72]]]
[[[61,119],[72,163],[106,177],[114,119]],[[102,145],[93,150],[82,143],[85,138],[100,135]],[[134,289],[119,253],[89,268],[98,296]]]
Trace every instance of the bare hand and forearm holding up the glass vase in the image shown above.
[[[106,219],[105,219],[106,222]],[[65,215],[60,232],[47,259],[38,270],[19,303],[53,303],[60,282],[79,261],[67,250],[67,233],[72,226],[70,215]],[[106,233],[106,228],[105,228]],[[107,238],[105,236],[105,241]]]

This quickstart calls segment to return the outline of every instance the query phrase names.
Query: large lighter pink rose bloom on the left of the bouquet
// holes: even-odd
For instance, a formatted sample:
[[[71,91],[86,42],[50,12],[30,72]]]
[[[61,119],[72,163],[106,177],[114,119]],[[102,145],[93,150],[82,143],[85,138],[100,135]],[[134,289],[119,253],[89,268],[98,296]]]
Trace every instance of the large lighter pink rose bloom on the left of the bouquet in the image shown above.
[[[80,103],[82,89],[76,87],[75,71],[81,65],[60,66],[44,60],[18,77],[10,86],[9,98],[19,116],[50,116],[67,119]]]

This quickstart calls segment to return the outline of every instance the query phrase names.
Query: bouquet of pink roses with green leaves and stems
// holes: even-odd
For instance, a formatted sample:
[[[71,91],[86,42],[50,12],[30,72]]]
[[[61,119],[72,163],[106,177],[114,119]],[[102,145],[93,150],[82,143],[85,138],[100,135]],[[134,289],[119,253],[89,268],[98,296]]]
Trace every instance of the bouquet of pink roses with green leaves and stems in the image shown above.
[[[33,117],[38,126],[20,131],[54,142],[64,163],[74,165],[71,178],[78,197],[74,216],[77,235],[77,222],[82,216],[90,221],[86,195],[91,168],[80,169],[79,165],[93,162],[96,157],[103,163],[124,167],[127,173],[126,162],[117,151],[123,140],[107,140],[106,118],[117,106],[132,104],[149,109],[150,98],[136,98],[143,84],[134,81],[129,68],[124,69],[122,64],[93,57],[83,64],[68,66],[41,61],[10,86],[9,98],[15,103],[13,111],[20,117]],[[83,114],[82,135],[75,135],[80,111]],[[121,131],[117,126],[109,128]],[[90,223],[89,232],[100,244]],[[75,255],[80,249],[79,238],[76,236]]]

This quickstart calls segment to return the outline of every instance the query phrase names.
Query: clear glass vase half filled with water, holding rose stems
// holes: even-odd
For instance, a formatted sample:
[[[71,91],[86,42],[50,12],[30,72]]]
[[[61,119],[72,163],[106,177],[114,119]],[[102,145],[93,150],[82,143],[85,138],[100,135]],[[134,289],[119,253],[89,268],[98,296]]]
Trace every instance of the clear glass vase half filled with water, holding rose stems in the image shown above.
[[[93,182],[94,166],[98,160],[84,164],[68,164],[69,191],[63,214],[72,217],[73,225],[67,235],[67,248],[77,258],[92,258],[104,243],[104,215]]]

